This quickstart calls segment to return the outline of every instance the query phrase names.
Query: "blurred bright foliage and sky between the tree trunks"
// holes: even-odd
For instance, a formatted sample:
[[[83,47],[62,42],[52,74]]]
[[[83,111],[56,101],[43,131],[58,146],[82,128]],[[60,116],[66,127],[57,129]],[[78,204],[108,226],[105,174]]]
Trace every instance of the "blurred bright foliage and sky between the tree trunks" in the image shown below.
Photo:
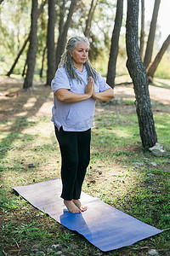
[[[43,1],[38,1],[39,5]],[[88,19],[88,13],[91,5],[91,0],[77,1],[77,7],[72,15],[71,26],[68,30],[67,38],[74,35],[84,35],[86,28],[86,22]],[[59,19],[60,9],[62,1],[56,1],[56,22],[55,22],[55,46],[59,37]],[[162,42],[167,38],[168,35],[168,19],[169,16],[165,13],[168,5],[168,1],[161,0],[160,9],[158,13],[158,20],[156,26],[156,37],[153,49],[152,60],[156,56],[157,52],[161,48]],[[65,2],[65,17],[66,20],[71,1]],[[90,24],[90,42],[91,42],[91,53],[90,61],[96,69],[103,76],[107,74],[107,67],[111,49],[111,34],[114,27],[114,20],[116,15],[116,1],[111,0],[99,0],[94,1],[94,16]],[[148,34],[150,31],[150,20],[154,7],[154,1],[146,1],[145,3],[145,25],[144,25],[144,50]],[[15,4],[13,1],[3,1],[0,6],[0,75],[8,73],[12,63],[20,48],[24,44],[26,37],[29,35],[31,27],[31,1],[19,1],[16,0]],[[127,53],[125,43],[126,33],[126,1],[124,1],[122,28],[119,38],[119,50],[116,61],[116,76],[128,74],[126,67]],[[141,10],[141,8],[140,8]],[[42,77],[46,77],[47,73],[47,30],[48,30],[48,4],[45,4],[37,20],[37,59],[36,67],[34,71],[35,77],[39,76],[42,71]],[[140,13],[139,13],[139,31],[140,31]],[[140,33],[140,32],[139,32]],[[17,65],[14,67],[13,73],[20,75],[23,73],[28,45],[24,49],[20,56]],[[45,53],[45,56],[43,56]],[[42,63],[42,58],[44,58]],[[26,71],[25,71],[26,74]],[[168,47],[166,53],[163,55],[160,65],[156,69],[156,77],[170,79],[170,48]]]

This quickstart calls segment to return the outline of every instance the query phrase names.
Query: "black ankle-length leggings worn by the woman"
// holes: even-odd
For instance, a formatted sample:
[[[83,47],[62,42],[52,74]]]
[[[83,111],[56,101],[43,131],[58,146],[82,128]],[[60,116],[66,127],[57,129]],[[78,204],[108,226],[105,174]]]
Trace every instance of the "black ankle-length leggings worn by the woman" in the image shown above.
[[[82,183],[90,160],[91,129],[88,131],[59,131],[55,135],[61,152],[61,197],[71,201],[79,199]]]

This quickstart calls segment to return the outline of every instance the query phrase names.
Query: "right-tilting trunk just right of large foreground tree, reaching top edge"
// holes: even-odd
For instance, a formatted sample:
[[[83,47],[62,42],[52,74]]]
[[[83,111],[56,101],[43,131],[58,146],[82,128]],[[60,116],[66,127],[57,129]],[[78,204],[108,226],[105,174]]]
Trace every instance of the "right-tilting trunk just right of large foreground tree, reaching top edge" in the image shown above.
[[[152,15],[151,23],[150,23],[150,33],[149,33],[149,38],[148,38],[146,51],[145,51],[145,55],[144,55],[144,66],[146,68],[150,65],[151,56],[152,56],[152,52],[153,52],[154,39],[155,39],[155,35],[156,35],[156,22],[157,22],[157,16],[158,16],[160,3],[161,3],[161,0],[155,0],[153,15]]]

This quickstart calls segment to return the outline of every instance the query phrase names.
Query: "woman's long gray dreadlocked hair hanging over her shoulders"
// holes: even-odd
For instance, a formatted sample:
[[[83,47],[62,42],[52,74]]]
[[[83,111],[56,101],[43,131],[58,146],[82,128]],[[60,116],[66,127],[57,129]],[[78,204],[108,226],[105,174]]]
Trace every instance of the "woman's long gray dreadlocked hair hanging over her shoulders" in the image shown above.
[[[68,43],[66,44],[66,47],[65,47],[65,52],[63,55],[61,55],[59,67],[61,67],[61,65],[63,65],[63,67],[65,67],[67,75],[70,76],[71,79],[77,79],[77,82],[80,82],[82,84],[82,80],[79,78],[77,72],[75,71],[75,67],[72,63],[71,55],[69,53],[69,51],[73,52],[73,50],[75,48],[77,48],[77,45],[80,43],[86,43],[86,44],[88,44],[88,47],[89,47],[88,38],[72,37],[68,40]],[[95,68],[92,67],[92,65],[90,64],[90,62],[88,60],[85,62],[84,65],[88,72],[88,78],[92,77],[94,79],[94,81],[96,82],[97,71],[95,70]]]

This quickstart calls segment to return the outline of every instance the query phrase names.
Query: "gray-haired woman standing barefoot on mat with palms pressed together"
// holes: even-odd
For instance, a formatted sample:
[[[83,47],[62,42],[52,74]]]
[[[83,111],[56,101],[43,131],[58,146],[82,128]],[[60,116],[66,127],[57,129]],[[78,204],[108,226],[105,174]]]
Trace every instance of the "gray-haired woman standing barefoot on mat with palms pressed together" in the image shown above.
[[[87,38],[70,38],[51,84],[52,121],[61,153],[61,197],[72,213],[87,210],[79,199],[90,160],[95,101],[114,98],[111,87],[89,63],[88,49]]]

